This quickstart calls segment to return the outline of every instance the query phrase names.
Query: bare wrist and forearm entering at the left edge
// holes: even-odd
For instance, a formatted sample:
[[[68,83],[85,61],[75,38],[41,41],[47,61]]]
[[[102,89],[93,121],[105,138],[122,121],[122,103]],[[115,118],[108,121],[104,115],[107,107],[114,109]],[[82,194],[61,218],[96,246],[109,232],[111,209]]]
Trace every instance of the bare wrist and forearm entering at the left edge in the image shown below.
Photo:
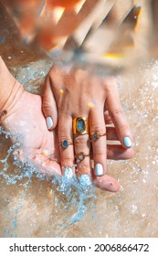
[[[10,102],[14,100],[20,87],[0,57],[0,111],[4,110],[4,107],[7,108]]]

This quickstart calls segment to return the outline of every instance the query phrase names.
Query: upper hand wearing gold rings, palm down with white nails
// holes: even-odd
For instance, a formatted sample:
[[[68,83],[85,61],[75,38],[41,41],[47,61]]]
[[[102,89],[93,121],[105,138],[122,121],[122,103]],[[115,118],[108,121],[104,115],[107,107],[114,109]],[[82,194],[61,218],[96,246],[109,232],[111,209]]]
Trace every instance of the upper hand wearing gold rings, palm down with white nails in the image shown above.
[[[105,111],[109,114],[104,114]],[[58,123],[62,166],[74,165],[76,158],[79,174],[90,174],[92,144],[93,175],[102,182],[106,180],[107,157],[120,160],[133,155],[132,133],[121,109],[114,78],[100,80],[80,69],[65,73],[52,68],[47,75],[43,112],[49,130]],[[84,134],[76,133],[79,117],[82,118],[80,125],[86,125]],[[106,123],[113,123],[114,127],[106,127]],[[121,145],[107,146],[107,140],[120,140]],[[68,147],[64,147],[64,142]]]

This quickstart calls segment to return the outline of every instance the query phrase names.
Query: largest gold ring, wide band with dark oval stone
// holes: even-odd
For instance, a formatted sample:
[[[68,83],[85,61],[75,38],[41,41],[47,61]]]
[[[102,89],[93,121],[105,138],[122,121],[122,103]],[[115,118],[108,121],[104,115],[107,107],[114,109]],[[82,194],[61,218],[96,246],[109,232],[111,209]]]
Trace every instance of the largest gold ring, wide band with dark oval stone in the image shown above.
[[[89,118],[77,117],[73,119],[73,133],[74,134],[88,134],[89,133]]]

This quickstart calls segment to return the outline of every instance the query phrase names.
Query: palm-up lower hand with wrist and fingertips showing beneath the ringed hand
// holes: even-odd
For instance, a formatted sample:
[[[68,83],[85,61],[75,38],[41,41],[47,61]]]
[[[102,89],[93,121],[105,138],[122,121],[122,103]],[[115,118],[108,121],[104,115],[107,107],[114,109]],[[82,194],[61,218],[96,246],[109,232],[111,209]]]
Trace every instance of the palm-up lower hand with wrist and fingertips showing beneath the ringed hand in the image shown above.
[[[2,59],[0,76],[0,89],[6,88],[7,93],[0,92],[0,123],[5,130],[20,133],[24,138],[26,154],[42,167],[43,172],[48,176],[61,175],[60,156],[58,149],[58,131],[47,130],[46,119],[42,112],[42,98],[31,94],[12,77]],[[1,91],[1,90],[0,90]],[[111,123],[108,117],[107,122]],[[108,131],[107,131],[108,132]],[[109,137],[117,138],[115,128],[109,130]],[[106,147],[106,146],[105,146]],[[43,150],[47,149],[51,157],[47,157]],[[41,153],[39,153],[41,152]],[[53,156],[52,156],[53,155]],[[108,146],[107,156],[113,159],[128,159],[133,155],[133,150],[121,146]],[[49,156],[49,155],[48,155]],[[55,161],[54,158],[57,160]],[[95,177],[95,186],[102,190],[115,192],[120,188],[119,183],[111,176]]]

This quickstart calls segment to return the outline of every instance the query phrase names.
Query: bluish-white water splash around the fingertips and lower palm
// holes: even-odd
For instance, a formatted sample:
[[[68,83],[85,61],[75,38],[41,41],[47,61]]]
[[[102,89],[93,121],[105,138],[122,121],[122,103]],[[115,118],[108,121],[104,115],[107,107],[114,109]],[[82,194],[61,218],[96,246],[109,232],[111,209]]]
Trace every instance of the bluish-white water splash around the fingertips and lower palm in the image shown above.
[[[20,140],[18,134],[16,135],[6,132],[2,127],[0,127],[0,135],[5,135],[5,140],[13,137],[16,139],[16,143],[9,146],[5,158],[0,160],[0,164],[3,165],[2,170],[0,171],[2,184],[10,186],[17,185],[19,187],[23,187],[23,189],[27,191],[27,188],[32,186],[31,183],[34,177],[37,177],[39,181],[51,180],[52,189],[56,187],[57,190],[66,197],[68,205],[71,204],[77,208],[77,212],[69,219],[69,224],[81,220],[84,217],[88,205],[86,201],[90,198],[95,199],[95,189],[90,180],[90,176],[83,175],[77,178],[77,176],[73,174],[72,169],[68,167],[63,168],[63,176],[55,176],[54,178],[43,176],[40,168],[31,162],[27,155],[25,155],[23,162],[20,161],[19,151],[24,151],[24,148],[23,142]],[[12,158],[14,165],[14,172],[11,173],[8,163],[10,157]],[[8,200],[6,201],[9,203]],[[68,208],[68,205],[65,205],[64,208]],[[20,204],[20,206],[22,206],[22,204]],[[16,210],[16,214],[17,213],[18,210]],[[17,218],[13,220],[13,229],[16,229],[16,219]],[[66,225],[64,221],[63,224]]]

